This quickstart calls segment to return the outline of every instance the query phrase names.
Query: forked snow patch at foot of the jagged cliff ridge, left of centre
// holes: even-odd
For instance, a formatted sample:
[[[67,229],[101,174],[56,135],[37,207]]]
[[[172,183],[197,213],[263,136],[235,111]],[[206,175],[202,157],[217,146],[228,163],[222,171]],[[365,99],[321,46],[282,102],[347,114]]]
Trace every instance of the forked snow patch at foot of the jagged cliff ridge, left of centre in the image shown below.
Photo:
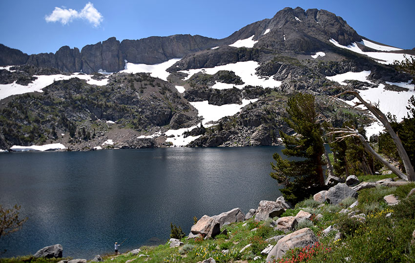
[[[133,74],[145,72],[150,73],[150,76],[152,77],[158,77],[160,79],[167,81],[167,76],[170,75],[170,73],[168,73],[166,69],[173,66],[173,64],[179,60],[180,58],[172,58],[170,60],[167,60],[166,62],[154,65],[134,64],[128,62],[125,64],[125,70],[122,70],[120,72]]]

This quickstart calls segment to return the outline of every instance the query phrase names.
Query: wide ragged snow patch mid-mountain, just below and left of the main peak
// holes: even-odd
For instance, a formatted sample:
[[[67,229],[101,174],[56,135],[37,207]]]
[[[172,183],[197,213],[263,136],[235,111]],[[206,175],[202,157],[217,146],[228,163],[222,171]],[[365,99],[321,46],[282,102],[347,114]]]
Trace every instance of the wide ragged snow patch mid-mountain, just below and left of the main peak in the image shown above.
[[[184,80],[189,79],[192,75],[203,72],[209,75],[216,74],[220,70],[228,70],[233,71],[235,75],[238,75],[245,84],[242,85],[233,85],[233,84],[226,84],[216,82],[212,88],[215,89],[229,89],[235,86],[238,89],[243,89],[247,85],[252,86],[262,86],[263,88],[274,88],[281,86],[281,81],[277,81],[272,78],[272,76],[268,77],[260,77],[256,75],[256,68],[259,67],[258,62],[256,61],[243,61],[243,62],[236,62],[230,63],[227,65],[216,66],[214,68],[203,68],[203,69],[190,69],[190,70],[182,70],[180,72],[188,74]],[[232,85],[232,86],[229,86]]]

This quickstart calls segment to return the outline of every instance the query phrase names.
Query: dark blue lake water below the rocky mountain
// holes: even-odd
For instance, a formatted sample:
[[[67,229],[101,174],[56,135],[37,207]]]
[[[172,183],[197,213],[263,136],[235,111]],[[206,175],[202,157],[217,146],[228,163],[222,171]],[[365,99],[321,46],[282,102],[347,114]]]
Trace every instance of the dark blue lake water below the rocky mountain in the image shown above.
[[[28,221],[0,240],[2,257],[62,244],[63,256],[91,259],[165,243],[170,222],[188,233],[193,216],[275,200],[269,175],[282,147],[168,148],[0,154],[0,204]]]

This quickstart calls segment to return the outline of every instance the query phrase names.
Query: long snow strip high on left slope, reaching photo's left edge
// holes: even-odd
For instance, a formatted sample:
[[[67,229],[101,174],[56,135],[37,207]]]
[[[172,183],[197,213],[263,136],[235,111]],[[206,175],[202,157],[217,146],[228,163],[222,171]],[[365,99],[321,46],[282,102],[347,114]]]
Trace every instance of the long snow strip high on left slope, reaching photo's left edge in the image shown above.
[[[86,80],[86,83],[91,85],[104,86],[108,84],[108,79],[95,80],[91,78],[91,75],[83,75],[75,73],[72,75],[34,75],[36,80],[29,83],[27,86],[17,84],[16,81],[10,84],[0,84],[0,99],[6,98],[11,95],[25,94],[30,92],[43,92],[42,89],[49,86],[58,80],[67,80],[73,77]]]

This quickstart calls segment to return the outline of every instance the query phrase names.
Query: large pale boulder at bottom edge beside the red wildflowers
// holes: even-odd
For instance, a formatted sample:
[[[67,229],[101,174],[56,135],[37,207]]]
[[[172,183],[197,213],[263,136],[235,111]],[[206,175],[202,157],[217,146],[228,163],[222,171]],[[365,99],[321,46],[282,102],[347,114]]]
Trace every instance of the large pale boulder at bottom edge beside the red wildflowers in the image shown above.
[[[306,227],[297,230],[278,241],[278,243],[271,249],[270,254],[268,254],[267,262],[279,259],[292,248],[306,247],[308,245],[313,245],[316,242],[318,242],[318,239],[310,228]]]

